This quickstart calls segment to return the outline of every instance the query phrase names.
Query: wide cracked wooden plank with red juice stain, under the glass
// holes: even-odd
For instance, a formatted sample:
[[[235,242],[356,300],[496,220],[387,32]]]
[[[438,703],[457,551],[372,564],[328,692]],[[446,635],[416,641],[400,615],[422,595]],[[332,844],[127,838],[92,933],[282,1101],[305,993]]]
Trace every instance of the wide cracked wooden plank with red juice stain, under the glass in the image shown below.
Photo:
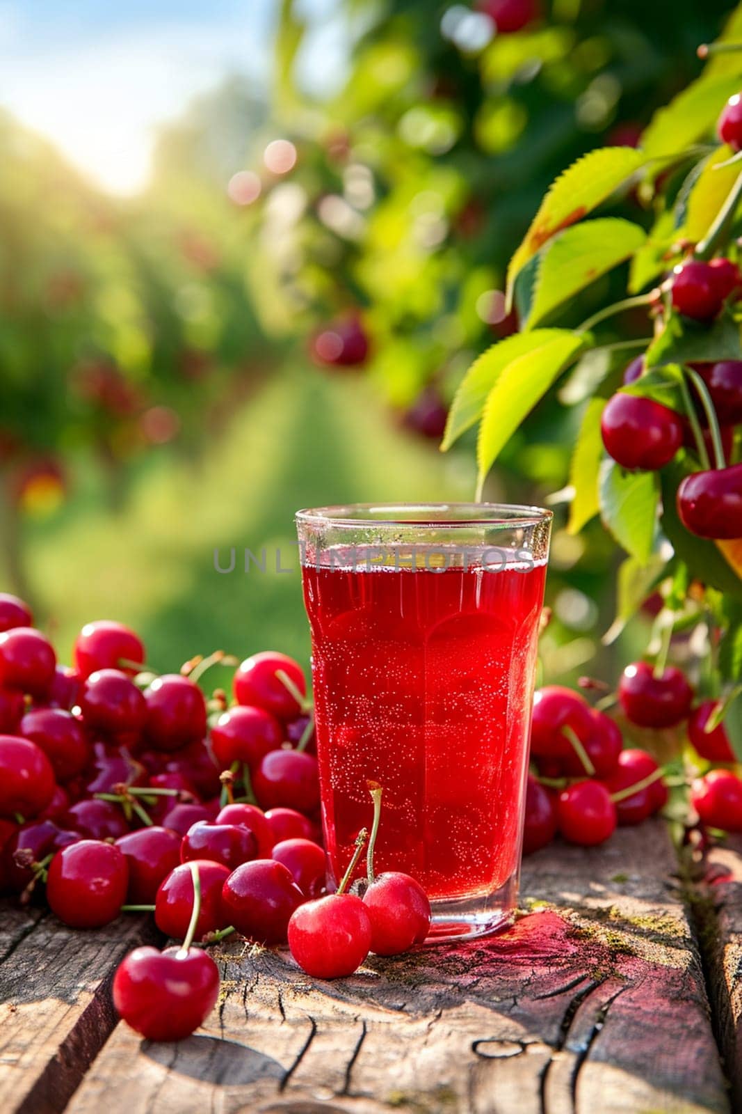
[[[220,952],[198,1034],[119,1026],[70,1114],[646,1114],[729,1111],[703,971],[664,829],[527,860],[515,928],[318,983]]]

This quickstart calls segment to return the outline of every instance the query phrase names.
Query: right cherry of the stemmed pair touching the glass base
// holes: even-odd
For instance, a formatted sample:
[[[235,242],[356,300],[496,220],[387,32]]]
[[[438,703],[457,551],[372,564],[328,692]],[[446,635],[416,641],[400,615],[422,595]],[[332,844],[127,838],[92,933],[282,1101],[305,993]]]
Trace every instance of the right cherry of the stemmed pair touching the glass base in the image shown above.
[[[377,956],[398,956],[425,942],[431,931],[431,902],[409,874],[397,870],[377,874],[363,900],[372,925],[370,950]]]

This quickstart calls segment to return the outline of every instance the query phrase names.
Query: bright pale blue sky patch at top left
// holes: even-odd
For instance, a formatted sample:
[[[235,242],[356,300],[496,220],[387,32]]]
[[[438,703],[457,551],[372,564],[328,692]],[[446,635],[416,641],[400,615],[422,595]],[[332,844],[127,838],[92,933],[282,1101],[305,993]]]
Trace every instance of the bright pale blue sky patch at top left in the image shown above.
[[[152,136],[229,71],[266,81],[280,0],[0,0],[0,106],[106,188],[147,180]],[[300,0],[308,84],[343,71],[338,0]]]

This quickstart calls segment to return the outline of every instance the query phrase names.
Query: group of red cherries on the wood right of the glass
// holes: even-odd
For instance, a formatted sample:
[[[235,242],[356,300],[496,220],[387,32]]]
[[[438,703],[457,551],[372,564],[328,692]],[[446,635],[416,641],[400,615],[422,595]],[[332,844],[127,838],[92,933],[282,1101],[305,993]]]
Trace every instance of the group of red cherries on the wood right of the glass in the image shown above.
[[[615,696],[602,697],[616,703],[636,727],[685,723],[699,768],[735,762],[726,730],[715,722],[719,702],[702,700],[693,706],[693,700],[682,670],[644,661],[626,666]],[[602,843],[616,827],[641,823],[667,803],[665,772],[655,759],[639,747],[624,749],[616,721],[571,688],[550,685],[536,692],[531,758],[525,854],[545,847],[557,832],[583,847]],[[742,831],[742,779],[732,770],[708,769],[694,778],[690,804],[691,825]]]

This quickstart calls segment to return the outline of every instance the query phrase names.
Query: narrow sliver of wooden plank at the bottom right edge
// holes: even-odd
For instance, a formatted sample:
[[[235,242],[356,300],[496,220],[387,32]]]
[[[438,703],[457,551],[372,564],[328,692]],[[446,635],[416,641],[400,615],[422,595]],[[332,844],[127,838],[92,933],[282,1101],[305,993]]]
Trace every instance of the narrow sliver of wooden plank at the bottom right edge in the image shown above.
[[[742,837],[709,851],[695,883],[694,912],[734,1110],[742,1110]]]

